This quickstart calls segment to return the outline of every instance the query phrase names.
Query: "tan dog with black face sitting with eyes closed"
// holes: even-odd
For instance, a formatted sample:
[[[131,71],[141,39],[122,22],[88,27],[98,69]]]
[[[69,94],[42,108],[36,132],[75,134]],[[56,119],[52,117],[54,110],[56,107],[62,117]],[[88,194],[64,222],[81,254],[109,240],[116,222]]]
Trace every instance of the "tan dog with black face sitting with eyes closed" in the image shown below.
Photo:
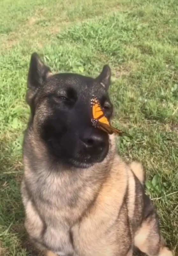
[[[108,65],[96,78],[52,74],[31,56],[23,146],[25,228],[46,256],[171,256],[144,192],[139,162],[125,163],[115,137],[91,123],[92,95],[110,120]]]

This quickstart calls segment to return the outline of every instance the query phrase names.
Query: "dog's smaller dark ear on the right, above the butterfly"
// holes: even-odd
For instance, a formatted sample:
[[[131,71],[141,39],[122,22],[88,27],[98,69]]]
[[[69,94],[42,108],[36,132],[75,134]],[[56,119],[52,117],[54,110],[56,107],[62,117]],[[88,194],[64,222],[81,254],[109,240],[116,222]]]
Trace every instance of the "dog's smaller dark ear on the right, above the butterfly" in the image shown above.
[[[108,90],[110,86],[110,78],[111,78],[111,69],[108,65],[104,65],[103,70],[99,76],[96,77],[96,80],[106,89]]]

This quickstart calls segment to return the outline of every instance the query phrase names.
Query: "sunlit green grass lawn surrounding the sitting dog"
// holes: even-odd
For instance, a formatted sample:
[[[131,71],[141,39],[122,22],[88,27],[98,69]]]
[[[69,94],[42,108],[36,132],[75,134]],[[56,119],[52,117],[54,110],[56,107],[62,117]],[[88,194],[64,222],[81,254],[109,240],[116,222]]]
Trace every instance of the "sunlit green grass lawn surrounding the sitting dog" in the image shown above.
[[[143,162],[161,232],[178,255],[177,0],[0,1],[0,255],[38,255],[23,228],[22,140],[30,55],[53,72],[112,68],[121,156]]]

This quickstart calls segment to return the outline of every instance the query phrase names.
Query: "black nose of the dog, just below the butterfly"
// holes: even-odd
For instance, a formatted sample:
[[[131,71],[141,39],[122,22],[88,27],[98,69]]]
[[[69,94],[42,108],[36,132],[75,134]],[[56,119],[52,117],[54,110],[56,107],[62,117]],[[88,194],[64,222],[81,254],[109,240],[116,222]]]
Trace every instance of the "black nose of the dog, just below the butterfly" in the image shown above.
[[[100,154],[106,147],[106,136],[105,134],[93,132],[91,134],[85,134],[82,142],[90,154]]]

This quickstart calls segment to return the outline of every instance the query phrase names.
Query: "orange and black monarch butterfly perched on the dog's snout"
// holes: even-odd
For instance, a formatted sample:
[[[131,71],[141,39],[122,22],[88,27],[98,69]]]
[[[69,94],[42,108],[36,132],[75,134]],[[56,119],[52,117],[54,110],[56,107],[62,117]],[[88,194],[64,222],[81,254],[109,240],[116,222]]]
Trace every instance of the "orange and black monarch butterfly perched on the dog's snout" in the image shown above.
[[[104,116],[103,109],[100,105],[99,100],[96,98],[95,95],[92,95],[91,99],[91,108],[92,108],[92,119],[91,122],[93,126],[107,132],[109,134],[117,133],[119,135],[123,135],[124,132],[118,130],[110,125],[110,122],[106,116]]]

